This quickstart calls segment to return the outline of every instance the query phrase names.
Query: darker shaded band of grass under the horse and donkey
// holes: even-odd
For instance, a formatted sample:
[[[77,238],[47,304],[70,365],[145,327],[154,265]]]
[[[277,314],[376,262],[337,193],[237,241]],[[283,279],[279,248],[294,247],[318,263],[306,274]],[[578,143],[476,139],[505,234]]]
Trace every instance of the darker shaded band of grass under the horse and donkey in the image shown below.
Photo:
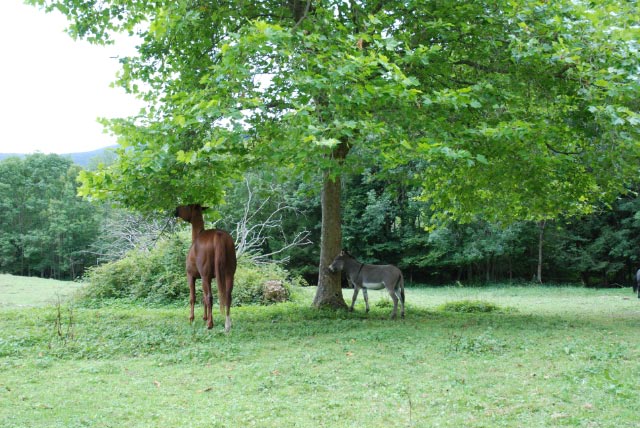
[[[222,317],[214,314],[216,325],[213,330],[207,330],[201,311],[200,307],[193,324],[187,320],[186,306],[121,305],[73,310],[47,307],[35,318],[31,311],[3,311],[0,357],[48,355],[61,359],[101,359],[160,354],[188,359],[199,358],[198,355],[204,353],[212,358],[227,358],[260,352],[262,346],[280,346],[285,342],[300,346],[309,341],[333,343],[357,339],[391,346],[399,341],[431,343],[437,337],[447,341],[446,338],[455,337],[459,332],[482,335],[491,330],[492,334],[517,339],[591,332],[606,335],[633,326],[626,319],[593,312],[580,316],[575,313],[525,314],[512,310],[458,313],[407,304],[406,317],[391,320],[391,308],[385,305],[374,304],[366,313],[359,307],[349,312],[289,302],[233,308],[233,328],[230,334],[224,334]]]

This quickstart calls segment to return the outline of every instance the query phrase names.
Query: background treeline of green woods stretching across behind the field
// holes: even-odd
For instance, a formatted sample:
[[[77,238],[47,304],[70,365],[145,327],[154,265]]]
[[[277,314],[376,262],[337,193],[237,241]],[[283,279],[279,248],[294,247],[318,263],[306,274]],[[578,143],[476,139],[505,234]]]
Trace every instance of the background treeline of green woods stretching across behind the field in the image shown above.
[[[143,217],[76,196],[81,168],[57,155],[0,161],[0,271],[74,279],[96,264],[148,248],[171,233],[167,214]],[[359,260],[393,263],[414,283],[580,282],[629,285],[639,265],[640,198],[581,218],[438,226],[410,168],[384,176],[363,168],[343,178],[343,246]],[[270,254],[317,280],[320,196],[313,180],[273,172],[244,177],[207,220],[254,255]],[[540,254],[542,257],[540,257]]]

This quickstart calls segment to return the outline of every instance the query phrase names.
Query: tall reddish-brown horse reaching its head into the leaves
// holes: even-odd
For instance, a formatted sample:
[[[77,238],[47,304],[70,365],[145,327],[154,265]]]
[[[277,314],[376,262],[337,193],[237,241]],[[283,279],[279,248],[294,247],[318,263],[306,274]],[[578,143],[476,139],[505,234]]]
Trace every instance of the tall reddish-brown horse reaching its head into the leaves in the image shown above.
[[[218,300],[220,312],[225,315],[224,330],[231,328],[231,291],[233,276],[236,273],[236,249],[233,238],[224,230],[204,230],[202,212],[206,208],[198,204],[183,205],[176,208],[175,215],[191,223],[191,248],[187,254],[187,282],[189,283],[189,321],[193,322],[193,307],[196,301],[196,279],[202,278],[203,319],[207,327],[213,328],[211,307],[211,279],[218,282]]]

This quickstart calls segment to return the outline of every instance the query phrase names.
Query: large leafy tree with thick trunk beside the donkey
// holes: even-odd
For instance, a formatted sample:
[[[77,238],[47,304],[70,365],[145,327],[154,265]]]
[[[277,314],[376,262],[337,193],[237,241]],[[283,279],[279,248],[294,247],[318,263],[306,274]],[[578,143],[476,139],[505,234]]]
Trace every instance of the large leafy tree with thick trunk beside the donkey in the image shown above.
[[[322,191],[314,303],[344,306],[340,176],[421,159],[440,219],[544,221],[635,179],[637,2],[30,0],[74,37],[140,37],[118,161],[81,192],[141,210],[217,203],[250,168]]]

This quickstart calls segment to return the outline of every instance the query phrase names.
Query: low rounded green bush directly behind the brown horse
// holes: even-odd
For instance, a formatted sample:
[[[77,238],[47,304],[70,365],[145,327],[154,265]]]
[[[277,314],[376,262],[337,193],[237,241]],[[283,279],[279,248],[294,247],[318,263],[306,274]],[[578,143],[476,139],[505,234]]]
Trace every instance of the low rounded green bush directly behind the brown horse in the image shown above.
[[[152,303],[187,302],[189,287],[185,273],[185,257],[189,251],[188,237],[179,235],[158,241],[151,251],[134,250],[121,260],[91,268],[85,275],[87,287],[83,295],[88,300],[128,299]],[[268,304],[264,301],[266,281],[280,281],[288,290],[299,285],[276,264],[255,264],[248,258],[238,260],[233,288],[233,305]],[[212,284],[217,304],[217,286]],[[197,300],[201,284],[197,282]]]

